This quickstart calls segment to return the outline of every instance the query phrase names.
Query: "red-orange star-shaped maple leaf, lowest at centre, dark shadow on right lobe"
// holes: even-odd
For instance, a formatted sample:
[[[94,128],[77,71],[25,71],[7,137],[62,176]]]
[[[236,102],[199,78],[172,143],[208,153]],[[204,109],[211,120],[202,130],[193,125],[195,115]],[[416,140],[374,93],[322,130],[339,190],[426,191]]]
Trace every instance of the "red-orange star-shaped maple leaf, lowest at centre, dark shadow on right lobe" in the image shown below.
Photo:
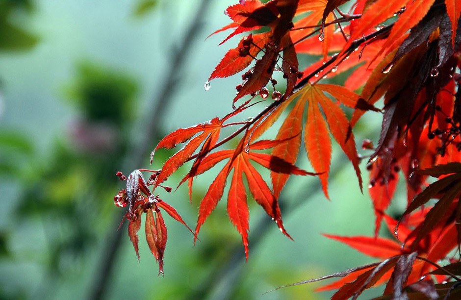
[[[261,175],[257,172],[256,168],[251,164],[250,160],[253,160],[261,166],[277,173],[294,175],[315,174],[301,170],[290,162],[285,161],[284,159],[275,155],[250,151],[250,149],[264,150],[273,148],[275,145],[280,144],[280,141],[261,140],[252,143],[251,145],[245,146],[246,143],[246,138],[244,137],[235,150],[219,150],[205,156],[194,173],[189,173],[186,175],[181,182],[184,182],[187,179],[191,180],[192,176],[200,175],[212,168],[218,162],[224,159],[229,159],[224,168],[219,172],[214,181],[211,183],[208,191],[200,203],[199,218],[195,232],[197,234],[200,231],[200,227],[205,223],[206,218],[214,210],[218,204],[218,201],[221,200],[224,194],[224,188],[226,186],[226,179],[230,175],[230,172],[233,170],[227,200],[227,210],[230,221],[233,225],[236,226],[237,231],[242,236],[245,255],[248,259],[249,212],[242,175],[245,175],[246,177],[246,181],[248,183],[248,187],[250,189],[250,193],[253,196],[253,199],[259,205],[261,205],[267,215],[274,220],[282,233],[291,238],[283,226],[282,215],[277,198],[274,196]]]

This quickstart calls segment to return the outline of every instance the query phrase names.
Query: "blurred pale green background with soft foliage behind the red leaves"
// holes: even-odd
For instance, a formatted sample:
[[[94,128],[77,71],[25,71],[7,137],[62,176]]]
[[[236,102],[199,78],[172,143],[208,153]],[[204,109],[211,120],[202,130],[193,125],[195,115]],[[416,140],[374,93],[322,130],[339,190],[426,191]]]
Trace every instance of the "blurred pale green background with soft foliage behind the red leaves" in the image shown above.
[[[117,231],[123,212],[113,197],[124,183],[115,173],[149,168],[161,137],[231,110],[240,76],[215,79],[208,91],[204,83],[236,44],[218,47],[227,33],[206,39],[230,22],[223,12],[234,3],[0,0],[0,299],[328,299],[331,292],[313,292],[319,284],[263,293],[371,261],[321,235],[374,230],[368,196],[336,146],[331,201],[317,178],[291,178],[282,193],[294,242],[249,201],[248,261],[225,201],[195,247],[165,216],[165,277],[143,230],[140,262],[126,227]],[[267,104],[258,105],[242,119]],[[377,122],[357,126],[358,144],[376,141]],[[151,168],[172,154],[157,151]],[[312,170],[305,153],[298,165]],[[162,195],[191,227],[209,173],[196,181],[192,204],[186,187]]]

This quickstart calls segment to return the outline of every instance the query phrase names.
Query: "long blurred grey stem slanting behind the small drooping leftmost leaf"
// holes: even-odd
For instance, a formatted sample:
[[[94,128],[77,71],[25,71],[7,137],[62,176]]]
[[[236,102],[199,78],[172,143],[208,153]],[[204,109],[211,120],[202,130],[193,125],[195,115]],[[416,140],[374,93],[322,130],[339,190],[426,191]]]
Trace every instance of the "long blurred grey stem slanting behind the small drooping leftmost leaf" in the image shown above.
[[[147,124],[147,126],[143,126],[143,137],[136,145],[134,145],[135,143],[131,143],[131,149],[125,154],[123,170],[140,168],[141,164],[152,150],[150,149],[152,143],[159,134],[158,124],[162,123],[161,120],[165,115],[164,112],[168,108],[168,104],[174,95],[174,86],[179,82],[179,77],[182,74],[182,66],[190,50],[193,49],[192,44],[198,40],[197,34],[203,25],[203,16],[206,15],[209,2],[210,0],[201,1],[191,24],[187,26],[188,30],[184,34],[182,44],[173,52],[170,62],[171,67],[169,68],[170,72],[166,76],[162,89],[159,93],[154,95],[152,105],[147,106],[152,109],[148,111],[144,117],[146,121],[143,124]],[[113,275],[114,263],[120,250],[122,234],[125,233],[124,228],[117,230],[124,214],[124,211],[118,213],[114,218],[113,225],[109,228],[106,245],[101,250],[100,265],[97,266],[94,280],[92,281],[93,285],[89,290],[89,299],[103,299],[107,291],[107,285],[110,282],[110,277]]]

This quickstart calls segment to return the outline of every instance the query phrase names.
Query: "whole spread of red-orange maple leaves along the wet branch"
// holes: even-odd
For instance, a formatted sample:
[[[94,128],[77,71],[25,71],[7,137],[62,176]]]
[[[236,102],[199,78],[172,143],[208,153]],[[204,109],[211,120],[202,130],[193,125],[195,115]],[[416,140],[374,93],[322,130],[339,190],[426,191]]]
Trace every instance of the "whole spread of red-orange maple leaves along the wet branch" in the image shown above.
[[[253,199],[289,237],[278,203],[288,177],[318,175],[328,197],[333,136],[351,161],[362,188],[361,158],[353,128],[364,113],[382,113],[377,147],[370,142],[362,145],[363,149],[373,150],[367,170],[370,171],[368,190],[376,215],[375,236],[328,237],[384,260],[322,277],[344,277],[323,289],[339,288],[333,299],[357,298],[363,290],[385,282],[383,299],[399,299],[410,293],[431,299],[459,294],[459,284],[435,281],[461,281],[460,264],[440,267],[435,262],[459,248],[461,240],[460,1],[240,0],[226,14],[232,23],[215,32],[233,29],[223,43],[248,31],[260,32],[241,38],[237,47],[225,54],[209,80],[234,75],[254,62],[242,75],[243,82],[236,87],[232,105],[247,95],[251,99],[222,119],[179,129],[162,139],[155,150],[186,144],[157,172],[151,182],[153,188],[161,187],[180,166],[193,160],[181,181],[188,181],[192,193],[195,176],[227,160],[200,203],[196,234],[223,197],[227,178],[231,176],[227,210],[242,236],[248,258],[246,186]],[[300,54],[320,55],[320,59],[301,72]],[[276,90],[278,83],[273,78],[276,72],[281,72],[286,81],[284,94]],[[343,86],[319,83],[345,72],[350,75]],[[268,85],[273,89],[274,101],[254,118],[228,122],[252,106],[257,94],[265,100],[269,95]],[[379,104],[382,108],[375,106],[381,103],[379,100],[384,101]],[[352,110],[350,119],[345,110]],[[258,140],[284,112],[286,116],[274,140]],[[220,140],[221,129],[230,125],[240,127]],[[237,136],[240,140],[236,148],[215,151]],[[315,174],[295,166],[303,142]],[[267,153],[269,149],[272,150]],[[270,171],[272,188],[253,163]],[[141,182],[137,173],[136,176],[135,182]],[[407,183],[408,206],[398,222],[388,217],[385,210],[394,198],[399,176]],[[430,184],[428,176],[438,180]],[[159,216],[154,222],[153,217],[148,217],[151,220],[146,224],[155,223],[156,227],[160,223],[160,228],[163,224],[158,207],[165,209],[164,202],[152,196],[154,191],[150,192],[146,184],[140,186],[135,194],[128,196],[132,240],[135,236],[132,232],[139,229],[137,220],[142,211]],[[435,205],[428,205],[430,200],[435,200]],[[142,205],[135,204],[138,202]],[[421,206],[425,208],[418,210]],[[183,223],[176,212],[170,214]],[[395,233],[396,240],[378,237],[383,220]],[[154,245],[157,253],[162,254],[164,242],[158,239],[159,244]],[[133,244],[137,249],[137,239]],[[156,255],[159,262],[161,254]]]

